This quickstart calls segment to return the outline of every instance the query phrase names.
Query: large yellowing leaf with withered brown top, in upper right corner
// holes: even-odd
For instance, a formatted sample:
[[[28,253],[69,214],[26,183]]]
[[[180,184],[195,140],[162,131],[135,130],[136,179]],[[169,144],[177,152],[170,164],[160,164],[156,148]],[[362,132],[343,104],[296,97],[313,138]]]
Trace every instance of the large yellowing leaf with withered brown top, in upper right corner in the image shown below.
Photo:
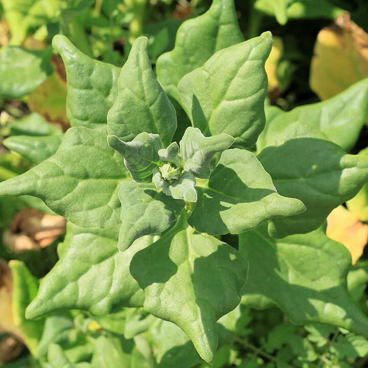
[[[317,36],[312,58],[310,87],[326,100],[368,77],[368,34],[350,15],[338,17]]]

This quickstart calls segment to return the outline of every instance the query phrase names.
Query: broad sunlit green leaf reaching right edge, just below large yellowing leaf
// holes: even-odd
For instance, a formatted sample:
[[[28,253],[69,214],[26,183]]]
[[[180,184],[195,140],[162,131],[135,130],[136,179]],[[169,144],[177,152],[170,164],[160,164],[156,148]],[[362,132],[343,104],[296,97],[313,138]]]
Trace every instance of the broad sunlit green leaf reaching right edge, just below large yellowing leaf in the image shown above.
[[[260,152],[276,132],[299,122],[321,130],[332,142],[349,151],[358,140],[367,110],[368,79],[353,84],[329,100],[296,107],[288,112],[266,106],[266,127],[257,141],[257,150]]]

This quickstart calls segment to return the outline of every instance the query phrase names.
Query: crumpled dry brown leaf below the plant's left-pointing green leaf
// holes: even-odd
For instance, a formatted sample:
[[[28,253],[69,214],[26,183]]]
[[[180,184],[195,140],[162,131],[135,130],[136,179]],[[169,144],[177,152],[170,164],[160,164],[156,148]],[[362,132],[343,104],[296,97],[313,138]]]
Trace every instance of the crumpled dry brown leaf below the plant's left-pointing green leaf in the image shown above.
[[[44,248],[65,233],[66,219],[35,209],[19,211],[5,232],[4,243],[17,253]]]

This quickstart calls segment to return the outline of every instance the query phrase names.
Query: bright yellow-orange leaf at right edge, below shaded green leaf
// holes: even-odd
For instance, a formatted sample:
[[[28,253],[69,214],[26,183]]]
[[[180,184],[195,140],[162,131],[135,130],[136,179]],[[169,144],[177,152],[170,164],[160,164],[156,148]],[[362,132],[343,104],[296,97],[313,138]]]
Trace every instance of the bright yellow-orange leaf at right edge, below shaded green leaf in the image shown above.
[[[368,225],[361,223],[355,214],[340,205],[327,218],[326,235],[346,246],[355,264],[368,241]]]

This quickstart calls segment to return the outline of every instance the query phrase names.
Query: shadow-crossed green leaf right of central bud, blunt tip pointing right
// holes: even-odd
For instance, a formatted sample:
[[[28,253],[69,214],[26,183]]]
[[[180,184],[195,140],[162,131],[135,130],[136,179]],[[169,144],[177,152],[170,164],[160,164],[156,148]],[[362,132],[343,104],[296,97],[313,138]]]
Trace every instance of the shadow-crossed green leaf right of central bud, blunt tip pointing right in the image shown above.
[[[196,189],[188,223],[210,235],[243,233],[273,217],[305,210],[300,200],[279,195],[255,155],[238,148],[223,152],[210,180],[198,180]]]

